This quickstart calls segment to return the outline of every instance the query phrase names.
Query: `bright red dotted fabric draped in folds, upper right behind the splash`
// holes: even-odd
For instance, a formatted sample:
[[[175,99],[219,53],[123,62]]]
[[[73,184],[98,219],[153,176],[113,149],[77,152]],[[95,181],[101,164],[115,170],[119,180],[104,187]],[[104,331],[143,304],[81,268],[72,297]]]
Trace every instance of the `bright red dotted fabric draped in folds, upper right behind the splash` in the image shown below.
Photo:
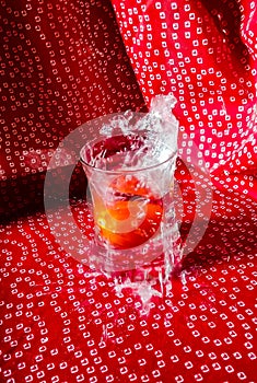
[[[113,3],[144,98],[174,93],[211,172],[256,174],[255,1]]]

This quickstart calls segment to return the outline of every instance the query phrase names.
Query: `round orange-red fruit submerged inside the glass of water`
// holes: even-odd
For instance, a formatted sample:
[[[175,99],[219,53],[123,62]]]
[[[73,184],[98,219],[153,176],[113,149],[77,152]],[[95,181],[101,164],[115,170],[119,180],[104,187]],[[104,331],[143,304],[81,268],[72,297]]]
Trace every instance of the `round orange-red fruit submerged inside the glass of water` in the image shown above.
[[[106,210],[98,216],[100,234],[114,248],[139,246],[159,230],[163,201],[136,176],[115,178],[109,186]]]

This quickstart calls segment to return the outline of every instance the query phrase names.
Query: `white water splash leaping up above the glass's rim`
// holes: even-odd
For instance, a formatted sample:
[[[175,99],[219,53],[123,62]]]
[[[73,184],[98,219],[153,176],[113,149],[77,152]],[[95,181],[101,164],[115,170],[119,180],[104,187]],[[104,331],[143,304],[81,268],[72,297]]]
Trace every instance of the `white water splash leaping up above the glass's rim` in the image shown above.
[[[133,112],[127,111],[102,126],[100,132],[106,137],[112,137],[114,132],[117,132],[117,129],[125,136],[148,132],[140,148],[135,146],[135,151],[130,150],[122,158],[120,156],[120,163],[124,167],[152,166],[165,161],[171,155],[171,150],[177,151],[178,121],[172,113],[175,104],[176,98],[172,93],[156,95],[151,101],[149,113],[144,114],[143,117],[142,114],[138,116]],[[155,141],[154,146],[152,146],[152,141]],[[101,152],[98,159],[105,158],[105,152]]]

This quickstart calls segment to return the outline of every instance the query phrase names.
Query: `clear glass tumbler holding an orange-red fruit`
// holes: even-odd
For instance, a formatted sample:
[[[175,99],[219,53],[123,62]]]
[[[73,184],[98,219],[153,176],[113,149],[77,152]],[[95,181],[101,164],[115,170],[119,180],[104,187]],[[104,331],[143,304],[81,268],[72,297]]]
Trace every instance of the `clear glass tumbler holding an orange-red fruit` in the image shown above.
[[[106,271],[135,269],[179,252],[175,209],[176,148],[154,131],[101,131],[80,160],[94,218],[93,252]]]

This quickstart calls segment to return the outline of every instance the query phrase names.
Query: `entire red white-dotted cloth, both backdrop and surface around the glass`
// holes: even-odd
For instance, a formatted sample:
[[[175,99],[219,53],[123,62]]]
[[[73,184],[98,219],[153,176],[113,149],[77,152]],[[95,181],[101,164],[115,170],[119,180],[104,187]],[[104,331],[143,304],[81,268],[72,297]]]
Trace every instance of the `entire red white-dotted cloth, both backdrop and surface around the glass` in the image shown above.
[[[113,5],[1,1],[0,381],[256,382],[256,2]],[[187,135],[210,171],[212,209],[182,275],[148,311],[60,248],[44,179],[78,126],[170,92],[179,155],[190,158]],[[61,173],[50,172],[56,190]],[[194,235],[205,221],[196,189],[206,196],[210,179],[183,162],[176,178],[186,241],[196,217]],[[71,213],[86,231],[83,183],[78,165]],[[52,206],[66,227],[61,200]]]

